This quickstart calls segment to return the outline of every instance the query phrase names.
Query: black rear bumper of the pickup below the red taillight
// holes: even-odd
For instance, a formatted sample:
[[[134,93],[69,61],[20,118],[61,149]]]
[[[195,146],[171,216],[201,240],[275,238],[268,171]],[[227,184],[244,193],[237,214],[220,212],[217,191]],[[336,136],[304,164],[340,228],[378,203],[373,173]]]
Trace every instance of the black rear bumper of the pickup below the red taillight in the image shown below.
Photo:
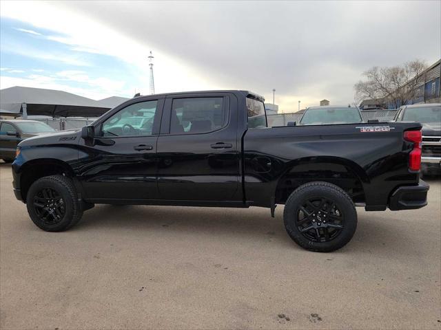
[[[389,209],[413,210],[427,205],[429,184],[420,180],[416,186],[401,186],[396,188],[389,199]]]

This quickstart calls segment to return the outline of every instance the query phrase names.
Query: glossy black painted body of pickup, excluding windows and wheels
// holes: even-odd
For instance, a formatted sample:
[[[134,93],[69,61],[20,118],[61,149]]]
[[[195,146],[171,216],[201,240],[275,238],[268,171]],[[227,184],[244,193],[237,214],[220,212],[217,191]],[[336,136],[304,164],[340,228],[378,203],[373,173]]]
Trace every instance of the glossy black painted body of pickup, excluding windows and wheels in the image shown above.
[[[300,184],[329,181],[347,190],[353,201],[365,203],[367,210],[426,205],[428,187],[418,173],[409,171],[412,144],[403,140],[405,130],[421,129],[419,123],[374,124],[390,127],[375,133],[360,132],[360,126],[373,124],[247,129],[248,95],[205,91],[141,96],[93,124],[97,132],[123,107],[158,100],[153,132],[147,137],[96,137],[86,142],[80,131],[70,131],[25,140],[12,164],[16,196],[25,200],[32,184],[29,173],[52,166],[70,175],[80,198],[91,203],[274,208]],[[205,96],[224,98],[227,125],[212,133],[170,134],[172,99]],[[212,147],[218,143],[231,146]],[[141,144],[152,148],[134,150]],[[406,186],[422,193],[413,207],[389,205],[396,189]]]

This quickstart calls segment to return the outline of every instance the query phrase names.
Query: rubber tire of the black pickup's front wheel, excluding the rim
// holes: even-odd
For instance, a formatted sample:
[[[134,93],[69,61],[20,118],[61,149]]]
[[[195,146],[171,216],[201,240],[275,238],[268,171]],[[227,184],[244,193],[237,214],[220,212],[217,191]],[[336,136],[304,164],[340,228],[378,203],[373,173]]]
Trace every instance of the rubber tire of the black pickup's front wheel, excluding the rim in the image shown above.
[[[61,195],[64,201],[64,216],[61,221],[59,221],[58,223],[54,223],[53,225],[50,223],[45,223],[42,219],[40,219],[33,205],[34,196],[43,188],[51,188],[56,190]],[[38,181],[35,181],[34,184],[30,186],[28,195],[26,197],[26,206],[28,208],[30,218],[35,223],[35,225],[37,225],[42,230],[48,232],[59,232],[69,227],[74,214],[74,203],[75,201],[72,199],[69,190],[65,186],[63,186],[63,184],[61,184],[59,181],[47,179],[44,177],[42,179],[39,179]]]

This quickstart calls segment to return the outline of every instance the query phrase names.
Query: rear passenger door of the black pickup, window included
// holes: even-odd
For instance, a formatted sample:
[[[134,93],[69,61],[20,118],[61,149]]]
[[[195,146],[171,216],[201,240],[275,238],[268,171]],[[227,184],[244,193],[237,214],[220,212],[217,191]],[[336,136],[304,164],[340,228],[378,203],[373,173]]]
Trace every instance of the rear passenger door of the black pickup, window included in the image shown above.
[[[166,99],[158,137],[161,199],[240,199],[240,150],[233,107],[237,107],[236,98],[230,94]]]

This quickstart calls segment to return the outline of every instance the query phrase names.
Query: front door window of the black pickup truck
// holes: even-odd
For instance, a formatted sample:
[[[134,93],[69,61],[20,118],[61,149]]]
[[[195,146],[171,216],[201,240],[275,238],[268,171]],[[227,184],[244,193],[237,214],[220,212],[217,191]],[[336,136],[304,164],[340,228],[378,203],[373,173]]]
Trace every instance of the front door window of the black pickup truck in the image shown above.
[[[130,104],[103,122],[105,137],[152,135],[153,120],[158,101]]]

